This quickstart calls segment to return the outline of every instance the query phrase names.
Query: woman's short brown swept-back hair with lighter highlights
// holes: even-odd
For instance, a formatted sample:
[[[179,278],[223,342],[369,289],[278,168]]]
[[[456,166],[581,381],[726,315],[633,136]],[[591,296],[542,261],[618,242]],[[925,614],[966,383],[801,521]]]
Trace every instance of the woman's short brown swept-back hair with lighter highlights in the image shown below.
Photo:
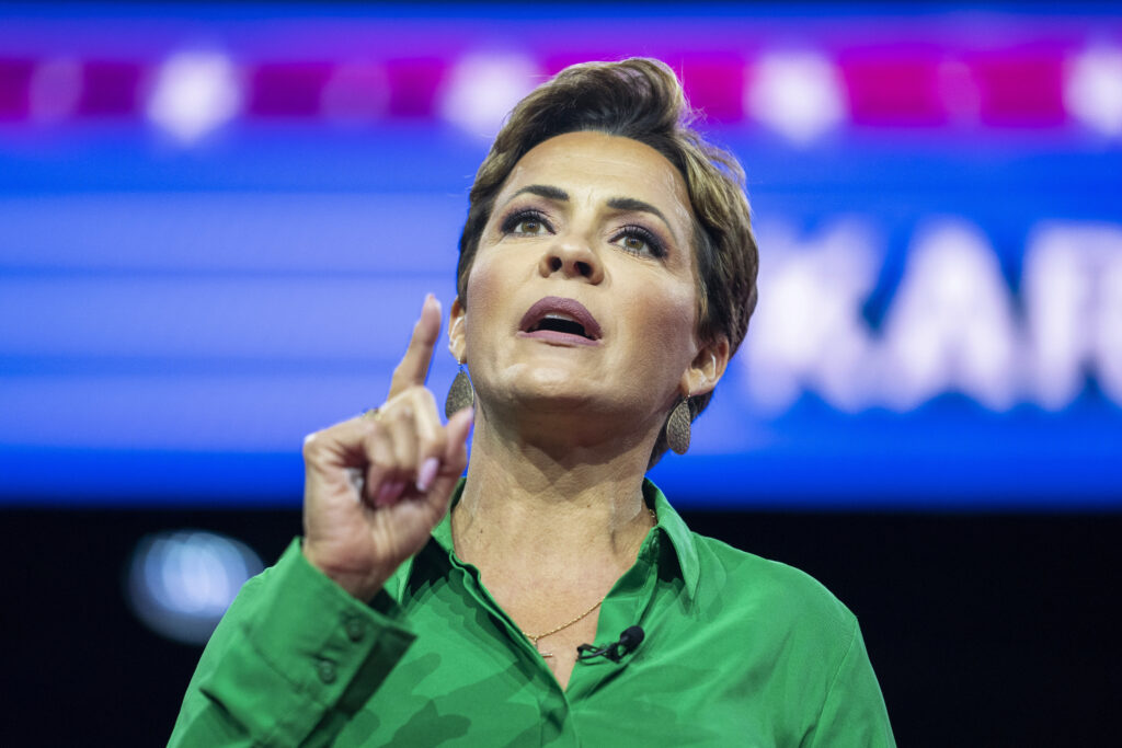
[[[467,306],[468,275],[479,239],[518,160],[550,138],[591,130],[645,144],[681,173],[696,216],[698,335],[707,343],[724,336],[729,354],[735,352],[756,306],[758,250],[744,169],[730,153],[706,142],[690,127],[693,119],[674,72],[645,57],[572,65],[531,92],[511,112],[471,185],[457,267],[460,303]],[[690,398],[693,418],[710,397],[711,393]],[[663,433],[650,465],[665,450]]]

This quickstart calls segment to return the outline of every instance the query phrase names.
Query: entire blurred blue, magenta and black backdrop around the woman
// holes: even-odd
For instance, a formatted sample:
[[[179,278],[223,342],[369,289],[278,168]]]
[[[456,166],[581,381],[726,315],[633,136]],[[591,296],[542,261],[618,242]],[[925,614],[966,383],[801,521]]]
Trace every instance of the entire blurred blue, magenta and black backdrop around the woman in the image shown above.
[[[1122,9],[90,2],[0,3],[10,745],[166,740],[301,532],[304,434],[451,302],[505,113],[632,55],[744,163],[762,253],[652,477],[857,613],[901,746],[1107,744]]]

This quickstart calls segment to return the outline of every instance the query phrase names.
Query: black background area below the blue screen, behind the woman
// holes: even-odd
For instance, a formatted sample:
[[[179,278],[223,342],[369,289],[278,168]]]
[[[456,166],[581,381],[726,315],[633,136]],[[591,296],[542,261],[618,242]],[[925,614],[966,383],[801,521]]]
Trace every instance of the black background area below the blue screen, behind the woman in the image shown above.
[[[857,613],[900,746],[1113,745],[1122,516],[683,514]],[[4,742],[147,746],[166,742],[201,650],[129,611],[137,541],[200,527],[272,563],[300,512],[28,509],[3,524]]]

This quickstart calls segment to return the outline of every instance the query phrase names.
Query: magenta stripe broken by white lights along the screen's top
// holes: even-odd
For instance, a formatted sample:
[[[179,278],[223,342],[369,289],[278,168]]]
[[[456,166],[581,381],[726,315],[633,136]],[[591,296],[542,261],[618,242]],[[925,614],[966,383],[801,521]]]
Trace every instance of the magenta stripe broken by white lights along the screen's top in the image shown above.
[[[375,49],[376,47],[371,47]],[[619,58],[626,50],[582,46],[581,53],[530,54],[539,70],[552,74],[574,62]],[[1065,70],[1084,49],[1080,44],[1013,45],[964,49],[937,43],[866,44],[845,48],[810,48],[836,67],[848,124],[873,128],[1060,128],[1070,121],[1064,105]],[[168,55],[175,49],[169,49]],[[807,49],[793,49],[794,53]],[[466,54],[466,53],[465,53]],[[472,54],[480,54],[476,50]],[[751,119],[752,71],[762,54],[783,49],[738,48],[670,52],[662,55],[682,76],[691,103],[710,123]],[[347,95],[369,108],[369,118],[436,120],[441,96],[460,49],[440,54],[381,55],[370,53],[315,58],[246,59],[230,53],[239,72],[246,102],[242,119],[320,119],[331,117],[325,91],[343,80]],[[0,58],[0,120],[33,122],[31,89],[36,72],[57,57]],[[145,101],[163,59],[94,56],[75,58],[81,89],[65,114],[79,120],[142,118]],[[375,71],[351,75],[355,65]],[[63,119],[65,119],[63,117]],[[844,124],[844,123],[843,123]]]

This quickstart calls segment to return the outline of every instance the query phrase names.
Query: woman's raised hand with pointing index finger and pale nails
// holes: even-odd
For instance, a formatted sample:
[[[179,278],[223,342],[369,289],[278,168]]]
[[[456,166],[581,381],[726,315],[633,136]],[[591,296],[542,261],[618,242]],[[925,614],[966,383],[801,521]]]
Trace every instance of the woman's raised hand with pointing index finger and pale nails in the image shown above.
[[[304,556],[364,601],[424,546],[467,464],[472,412],[441,425],[424,387],[440,318],[430,295],[377,412],[304,440]]]

